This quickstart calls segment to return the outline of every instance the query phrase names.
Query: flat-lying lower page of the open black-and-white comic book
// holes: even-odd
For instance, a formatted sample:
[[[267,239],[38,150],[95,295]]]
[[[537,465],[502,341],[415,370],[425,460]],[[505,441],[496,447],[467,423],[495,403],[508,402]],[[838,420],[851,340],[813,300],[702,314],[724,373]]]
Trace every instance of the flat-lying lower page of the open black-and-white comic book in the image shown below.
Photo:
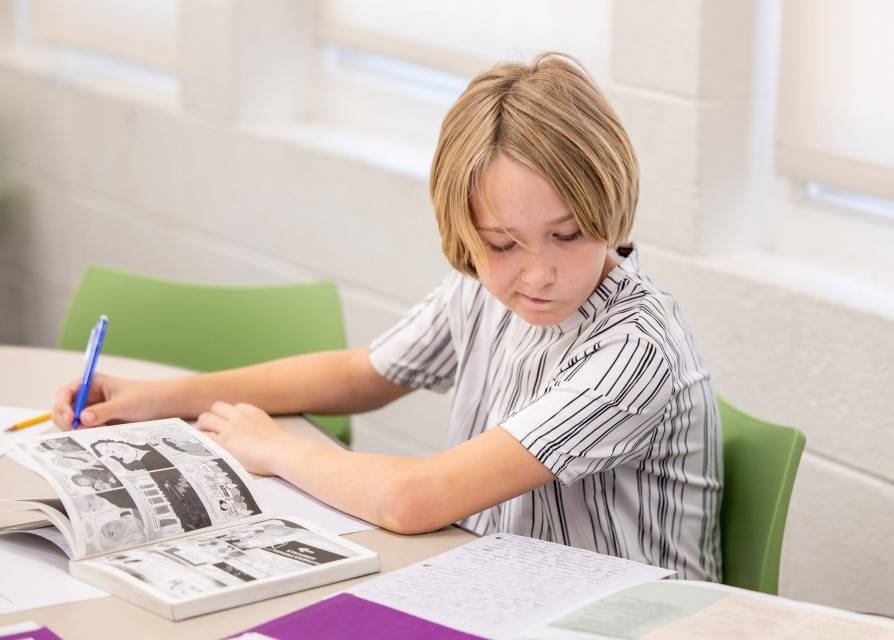
[[[160,599],[178,602],[360,557],[375,554],[308,523],[271,518],[82,560],[72,574],[90,565],[117,569]],[[377,562],[361,573],[376,568]]]

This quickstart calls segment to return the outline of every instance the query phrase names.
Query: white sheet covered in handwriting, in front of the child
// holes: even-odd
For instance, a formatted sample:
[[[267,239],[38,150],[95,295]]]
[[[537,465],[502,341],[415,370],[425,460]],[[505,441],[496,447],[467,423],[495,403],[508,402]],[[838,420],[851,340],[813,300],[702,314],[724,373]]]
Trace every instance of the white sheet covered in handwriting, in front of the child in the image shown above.
[[[512,534],[485,536],[348,590],[466,633],[512,638],[535,622],[673,571]]]

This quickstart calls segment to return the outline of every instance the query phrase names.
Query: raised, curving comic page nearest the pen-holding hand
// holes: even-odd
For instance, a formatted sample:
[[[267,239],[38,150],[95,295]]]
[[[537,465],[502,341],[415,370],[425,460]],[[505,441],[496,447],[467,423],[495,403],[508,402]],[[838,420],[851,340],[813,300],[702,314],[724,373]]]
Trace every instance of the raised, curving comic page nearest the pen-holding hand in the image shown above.
[[[52,434],[16,446],[64,503],[77,558],[263,511],[251,476],[182,420]]]

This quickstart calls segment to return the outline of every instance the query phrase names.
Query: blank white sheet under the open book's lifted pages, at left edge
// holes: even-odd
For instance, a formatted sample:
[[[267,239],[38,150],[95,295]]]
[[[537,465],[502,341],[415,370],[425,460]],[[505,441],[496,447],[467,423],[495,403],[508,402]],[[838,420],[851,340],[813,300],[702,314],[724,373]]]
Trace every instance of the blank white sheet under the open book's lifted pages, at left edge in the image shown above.
[[[68,559],[27,533],[0,536],[0,614],[107,595],[68,575]]]

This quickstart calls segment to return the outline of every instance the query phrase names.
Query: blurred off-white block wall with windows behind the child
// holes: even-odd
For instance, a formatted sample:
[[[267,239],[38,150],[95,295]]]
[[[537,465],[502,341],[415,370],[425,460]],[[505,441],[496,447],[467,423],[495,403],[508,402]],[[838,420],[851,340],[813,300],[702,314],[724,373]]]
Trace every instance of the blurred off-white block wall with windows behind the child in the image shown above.
[[[807,435],[782,595],[894,614],[892,5],[442,4],[0,0],[0,342],[53,346],[102,262],[331,279],[368,343],[447,271],[446,109],[486,66],[567,51],[631,133],[643,267],[718,392]],[[437,451],[449,403],[358,417],[355,446]]]

